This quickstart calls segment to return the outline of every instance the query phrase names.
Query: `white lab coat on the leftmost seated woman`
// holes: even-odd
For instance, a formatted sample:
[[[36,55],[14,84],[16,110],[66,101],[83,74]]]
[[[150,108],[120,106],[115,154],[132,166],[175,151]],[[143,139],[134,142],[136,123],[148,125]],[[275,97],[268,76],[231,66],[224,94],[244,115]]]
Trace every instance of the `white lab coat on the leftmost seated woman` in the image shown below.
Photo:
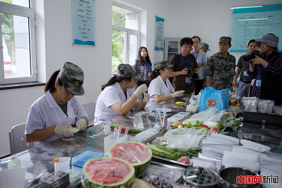
[[[88,117],[76,97],[72,97],[70,101],[67,102],[67,114],[68,116],[56,103],[49,90],[29,107],[24,133],[31,134],[37,129],[45,129],[54,125],[73,125],[76,124],[79,119]],[[48,138],[35,142],[34,147],[61,137],[62,136],[59,134],[53,134]]]

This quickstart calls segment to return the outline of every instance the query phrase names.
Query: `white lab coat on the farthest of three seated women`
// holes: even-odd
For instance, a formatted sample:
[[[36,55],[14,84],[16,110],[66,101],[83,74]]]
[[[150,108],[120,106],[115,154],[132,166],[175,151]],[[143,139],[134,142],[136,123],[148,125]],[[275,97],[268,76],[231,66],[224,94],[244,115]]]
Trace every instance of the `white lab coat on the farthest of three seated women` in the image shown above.
[[[154,95],[165,96],[165,95],[170,95],[171,93],[174,92],[174,89],[169,79],[166,79],[165,82],[162,80],[162,77],[160,76],[156,77],[154,80],[151,81],[148,88],[148,94],[150,95],[150,100],[146,104],[146,107],[149,107],[150,105],[156,103],[154,100]]]

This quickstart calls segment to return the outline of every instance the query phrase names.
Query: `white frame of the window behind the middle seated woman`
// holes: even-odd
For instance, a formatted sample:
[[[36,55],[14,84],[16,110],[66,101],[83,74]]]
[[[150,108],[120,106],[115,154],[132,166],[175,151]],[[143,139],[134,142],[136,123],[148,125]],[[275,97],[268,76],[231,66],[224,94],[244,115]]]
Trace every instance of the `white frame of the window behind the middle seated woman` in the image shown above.
[[[131,8],[131,7],[128,7],[128,6],[125,6],[125,5],[122,5],[122,4],[119,4],[119,3],[116,3],[116,2],[112,2],[112,5],[115,5],[115,6],[118,6],[118,7],[121,7],[121,8],[125,8],[125,9],[128,9],[128,10],[131,10],[133,12],[136,12],[138,13],[138,30],[135,30],[135,29],[128,29],[128,28],[124,28],[124,27],[120,27],[120,26],[116,26],[116,25],[112,25],[112,29],[115,29],[115,30],[119,30],[119,31],[124,31],[125,32],[125,41],[124,41],[124,63],[125,64],[129,64],[129,56],[130,56],[130,51],[128,49],[129,47],[129,36],[130,35],[136,35],[137,38],[138,38],[138,41],[137,41],[137,48],[136,48],[136,54],[138,54],[138,48],[139,48],[139,45],[140,45],[140,31],[139,31],[139,18],[140,18],[140,11],[139,10],[136,10],[134,8]],[[112,73],[112,74],[116,74],[116,73]]]

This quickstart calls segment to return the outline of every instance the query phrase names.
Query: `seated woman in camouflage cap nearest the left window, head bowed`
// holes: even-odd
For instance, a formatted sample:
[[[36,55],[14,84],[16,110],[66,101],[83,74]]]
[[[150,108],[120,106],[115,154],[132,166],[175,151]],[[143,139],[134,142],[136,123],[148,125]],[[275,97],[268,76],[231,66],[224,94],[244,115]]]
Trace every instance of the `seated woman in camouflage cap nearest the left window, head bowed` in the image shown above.
[[[35,142],[37,146],[86,129],[88,115],[74,97],[84,94],[83,77],[81,68],[70,62],[52,74],[45,84],[45,95],[29,108],[27,142]]]

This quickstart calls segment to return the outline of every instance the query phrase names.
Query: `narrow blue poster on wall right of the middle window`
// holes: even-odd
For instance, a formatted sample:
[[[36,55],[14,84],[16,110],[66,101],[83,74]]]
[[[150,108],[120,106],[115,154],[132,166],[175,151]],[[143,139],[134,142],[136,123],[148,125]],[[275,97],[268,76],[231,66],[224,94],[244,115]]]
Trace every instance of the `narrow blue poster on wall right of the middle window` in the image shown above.
[[[155,47],[154,50],[164,50],[165,18],[155,16]]]

